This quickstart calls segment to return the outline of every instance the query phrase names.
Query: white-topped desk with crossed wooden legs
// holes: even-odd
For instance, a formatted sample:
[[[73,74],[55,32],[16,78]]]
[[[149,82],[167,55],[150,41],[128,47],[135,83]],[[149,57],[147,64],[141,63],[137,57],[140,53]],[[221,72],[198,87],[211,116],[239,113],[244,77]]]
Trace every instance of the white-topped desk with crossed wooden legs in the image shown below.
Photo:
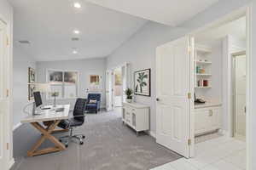
[[[43,134],[42,137],[38,139],[38,142],[34,144],[32,149],[27,151],[27,156],[38,156],[66,149],[64,144],[61,144],[61,142],[51,135],[51,133],[55,131],[55,127],[61,122],[61,120],[68,119],[70,105],[57,105],[57,108],[58,107],[63,107],[64,111],[56,112],[53,109],[41,110],[39,111],[41,115],[26,116],[21,121],[21,123],[31,123],[33,127],[37,128],[38,131]],[[45,123],[47,127],[43,127],[39,122],[47,122]],[[38,147],[43,144],[45,139],[49,139],[55,144],[55,147],[38,150]]]

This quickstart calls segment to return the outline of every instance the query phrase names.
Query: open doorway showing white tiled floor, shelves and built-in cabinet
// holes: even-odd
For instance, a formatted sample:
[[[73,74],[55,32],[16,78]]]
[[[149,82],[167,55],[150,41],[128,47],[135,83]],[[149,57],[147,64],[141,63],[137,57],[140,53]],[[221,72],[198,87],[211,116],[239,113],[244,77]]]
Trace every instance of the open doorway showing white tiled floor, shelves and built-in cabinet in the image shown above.
[[[189,162],[201,161],[198,168],[247,167],[246,50],[245,14],[195,34],[195,94],[205,103],[195,102],[195,154]]]

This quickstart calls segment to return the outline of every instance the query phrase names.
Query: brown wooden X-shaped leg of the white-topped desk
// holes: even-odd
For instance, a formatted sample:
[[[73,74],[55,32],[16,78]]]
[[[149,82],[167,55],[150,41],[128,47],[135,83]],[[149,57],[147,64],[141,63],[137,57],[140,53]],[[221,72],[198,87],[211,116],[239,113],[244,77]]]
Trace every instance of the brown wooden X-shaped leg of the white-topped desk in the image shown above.
[[[54,121],[52,124],[49,125],[49,127],[44,128],[42,127],[38,122],[32,122],[32,126],[37,128],[40,133],[43,134],[41,138],[38,140],[36,144],[33,145],[31,150],[27,151],[27,156],[38,156],[42,154],[47,154],[55,151],[61,151],[65,150],[65,146],[61,144],[61,142],[56,139],[51,133],[54,131],[55,127],[60,123],[61,121]],[[52,143],[55,144],[55,147],[45,148],[43,150],[38,150],[38,147],[43,144],[45,139],[49,139]]]

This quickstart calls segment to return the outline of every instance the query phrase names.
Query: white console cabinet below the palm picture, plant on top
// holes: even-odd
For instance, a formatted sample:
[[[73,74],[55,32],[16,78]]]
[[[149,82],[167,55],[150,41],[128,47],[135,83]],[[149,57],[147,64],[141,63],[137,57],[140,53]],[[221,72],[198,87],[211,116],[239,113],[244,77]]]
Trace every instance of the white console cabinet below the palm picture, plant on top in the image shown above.
[[[122,121],[137,134],[149,130],[149,106],[138,103],[123,103]]]

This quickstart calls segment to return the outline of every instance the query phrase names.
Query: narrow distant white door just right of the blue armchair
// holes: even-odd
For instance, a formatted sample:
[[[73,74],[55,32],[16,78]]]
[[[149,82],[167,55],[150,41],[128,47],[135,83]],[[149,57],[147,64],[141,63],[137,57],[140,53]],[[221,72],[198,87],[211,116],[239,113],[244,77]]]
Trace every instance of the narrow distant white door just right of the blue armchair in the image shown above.
[[[113,111],[113,71],[108,70],[106,75],[106,82],[107,82],[107,88],[106,88],[106,99],[107,99],[107,111]]]

